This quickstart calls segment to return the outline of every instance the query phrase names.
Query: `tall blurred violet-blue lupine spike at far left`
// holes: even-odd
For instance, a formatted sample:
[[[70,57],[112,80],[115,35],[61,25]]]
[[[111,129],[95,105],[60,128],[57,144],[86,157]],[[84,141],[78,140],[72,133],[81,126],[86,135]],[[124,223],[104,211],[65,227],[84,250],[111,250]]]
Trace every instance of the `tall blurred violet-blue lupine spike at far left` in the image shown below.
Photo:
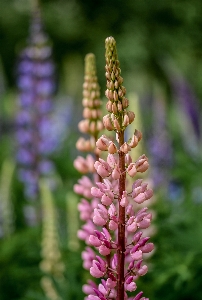
[[[25,195],[34,199],[39,192],[39,178],[53,174],[49,154],[55,149],[51,133],[52,96],[55,90],[51,47],[43,32],[40,11],[33,13],[27,47],[17,66],[19,111],[16,119],[19,179]]]

